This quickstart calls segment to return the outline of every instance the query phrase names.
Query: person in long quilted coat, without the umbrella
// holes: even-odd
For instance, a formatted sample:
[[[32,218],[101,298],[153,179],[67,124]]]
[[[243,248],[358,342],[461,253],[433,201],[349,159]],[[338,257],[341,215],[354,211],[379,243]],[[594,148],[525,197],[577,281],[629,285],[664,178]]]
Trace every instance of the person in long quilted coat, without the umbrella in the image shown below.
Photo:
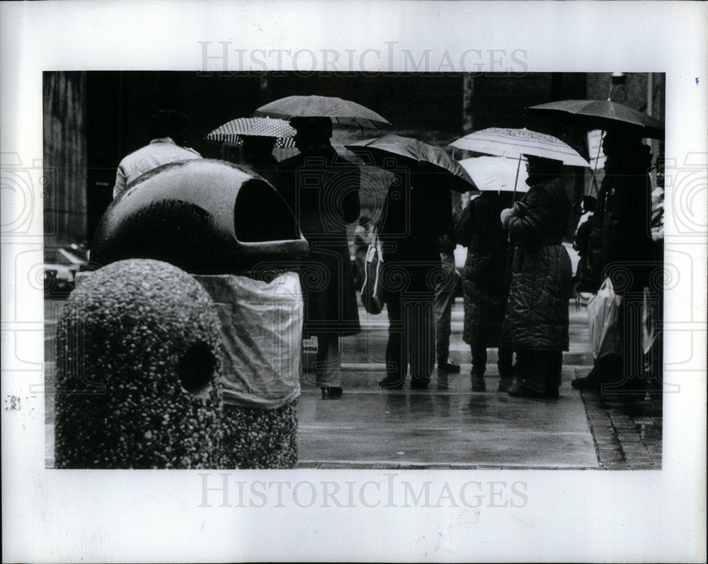
[[[511,286],[501,343],[516,352],[510,396],[557,397],[563,351],[569,348],[571,260],[561,245],[570,205],[561,162],[527,156],[530,186],[520,202],[501,212],[514,244]]]

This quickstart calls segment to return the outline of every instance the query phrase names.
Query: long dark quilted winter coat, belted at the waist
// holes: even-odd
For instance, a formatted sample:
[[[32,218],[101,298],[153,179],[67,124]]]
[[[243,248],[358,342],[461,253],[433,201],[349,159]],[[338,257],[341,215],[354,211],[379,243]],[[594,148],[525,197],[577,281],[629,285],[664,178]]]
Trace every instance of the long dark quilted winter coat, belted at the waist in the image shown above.
[[[568,350],[571,260],[561,245],[570,205],[560,178],[535,180],[506,224],[515,243],[501,343]]]

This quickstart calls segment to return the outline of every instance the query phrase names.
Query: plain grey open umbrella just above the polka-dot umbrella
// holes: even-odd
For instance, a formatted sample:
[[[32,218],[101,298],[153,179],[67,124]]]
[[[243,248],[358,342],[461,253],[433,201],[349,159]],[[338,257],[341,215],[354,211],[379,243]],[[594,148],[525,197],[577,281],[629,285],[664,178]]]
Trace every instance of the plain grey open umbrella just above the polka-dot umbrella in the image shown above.
[[[333,123],[375,129],[391,125],[369,108],[335,96],[287,96],[262,105],[253,115],[268,115],[284,120],[290,117],[329,117]]]

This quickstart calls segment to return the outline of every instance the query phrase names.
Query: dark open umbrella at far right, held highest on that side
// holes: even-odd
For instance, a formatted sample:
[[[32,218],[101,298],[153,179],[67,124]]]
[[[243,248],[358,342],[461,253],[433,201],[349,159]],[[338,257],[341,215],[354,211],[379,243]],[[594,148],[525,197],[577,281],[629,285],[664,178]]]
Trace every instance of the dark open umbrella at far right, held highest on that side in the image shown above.
[[[656,117],[610,100],[559,100],[532,105],[526,111],[529,114],[565,117],[567,122],[590,130],[635,130],[641,137],[651,139],[661,139],[665,130],[664,123]]]

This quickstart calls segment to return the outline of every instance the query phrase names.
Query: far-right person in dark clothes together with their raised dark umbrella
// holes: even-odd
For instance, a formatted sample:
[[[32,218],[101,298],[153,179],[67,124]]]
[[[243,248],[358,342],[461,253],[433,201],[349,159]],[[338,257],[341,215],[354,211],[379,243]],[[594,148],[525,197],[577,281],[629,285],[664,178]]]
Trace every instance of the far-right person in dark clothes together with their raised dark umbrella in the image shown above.
[[[618,323],[623,350],[622,357],[600,357],[588,376],[576,378],[571,385],[576,389],[616,391],[629,399],[643,398],[643,294],[649,292],[652,297],[650,309],[661,310],[662,293],[656,279],[661,272],[663,248],[652,243],[651,150],[641,139],[663,139],[665,125],[656,117],[609,99],[558,100],[527,108],[527,113],[607,132],[603,140],[605,178],[585,252],[591,277],[600,281],[609,277],[615,293],[622,297]]]

